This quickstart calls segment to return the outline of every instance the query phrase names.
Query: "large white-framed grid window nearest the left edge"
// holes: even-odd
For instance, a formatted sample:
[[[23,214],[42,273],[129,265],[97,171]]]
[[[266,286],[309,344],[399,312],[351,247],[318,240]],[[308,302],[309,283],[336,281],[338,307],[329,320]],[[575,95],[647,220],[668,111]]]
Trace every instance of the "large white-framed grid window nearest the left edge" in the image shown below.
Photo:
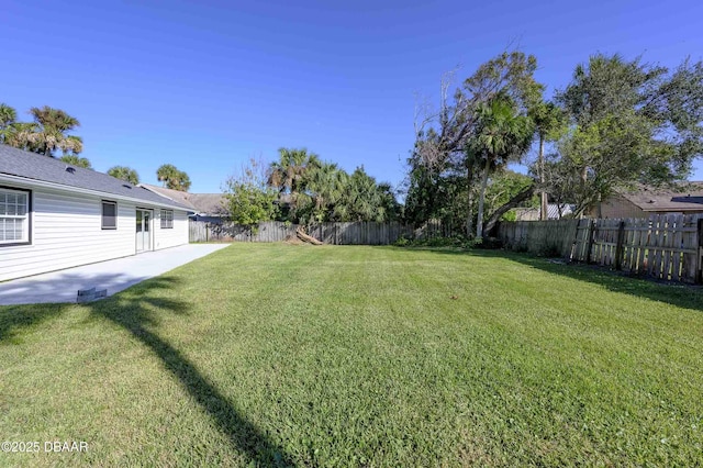
[[[29,244],[30,194],[29,190],[0,187],[0,246]]]

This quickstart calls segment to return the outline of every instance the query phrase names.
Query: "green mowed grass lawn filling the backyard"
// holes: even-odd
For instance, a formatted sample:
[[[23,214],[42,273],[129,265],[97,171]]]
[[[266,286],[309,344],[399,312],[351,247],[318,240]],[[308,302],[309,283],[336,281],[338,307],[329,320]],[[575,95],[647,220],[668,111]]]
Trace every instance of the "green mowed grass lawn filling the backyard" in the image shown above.
[[[703,464],[703,292],[504,253],[234,244],[0,308],[0,466]]]

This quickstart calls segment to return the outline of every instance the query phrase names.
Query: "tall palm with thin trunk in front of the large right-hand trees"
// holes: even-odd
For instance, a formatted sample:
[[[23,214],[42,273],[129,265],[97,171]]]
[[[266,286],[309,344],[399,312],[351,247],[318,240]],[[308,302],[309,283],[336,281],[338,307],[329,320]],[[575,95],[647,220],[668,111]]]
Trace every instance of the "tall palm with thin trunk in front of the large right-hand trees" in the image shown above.
[[[483,204],[491,171],[504,167],[510,161],[520,160],[529,149],[532,138],[532,120],[521,115],[509,97],[498,94],[479,109],[476,131],[470,142],[471,149],[479,155],[483,167],[476,222],[477,238],[483,236]]]

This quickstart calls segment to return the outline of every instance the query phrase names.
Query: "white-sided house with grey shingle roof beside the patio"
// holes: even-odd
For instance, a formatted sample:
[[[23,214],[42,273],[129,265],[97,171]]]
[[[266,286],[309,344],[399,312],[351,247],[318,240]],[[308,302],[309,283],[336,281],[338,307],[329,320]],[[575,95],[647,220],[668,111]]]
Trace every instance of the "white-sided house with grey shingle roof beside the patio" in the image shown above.
[[[0,281],[188,244],[188,210],[0,144]]]

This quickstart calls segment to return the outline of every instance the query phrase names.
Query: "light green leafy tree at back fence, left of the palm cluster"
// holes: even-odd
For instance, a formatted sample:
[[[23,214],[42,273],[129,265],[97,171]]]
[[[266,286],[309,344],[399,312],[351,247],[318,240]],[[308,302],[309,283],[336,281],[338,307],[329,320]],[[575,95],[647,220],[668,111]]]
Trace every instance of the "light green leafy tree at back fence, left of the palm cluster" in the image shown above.
[[[267,185],[260,161],[252,158],[225,186],[226,209],[234,223],[256,229],[258,223],[275,219],[278,192]]]

